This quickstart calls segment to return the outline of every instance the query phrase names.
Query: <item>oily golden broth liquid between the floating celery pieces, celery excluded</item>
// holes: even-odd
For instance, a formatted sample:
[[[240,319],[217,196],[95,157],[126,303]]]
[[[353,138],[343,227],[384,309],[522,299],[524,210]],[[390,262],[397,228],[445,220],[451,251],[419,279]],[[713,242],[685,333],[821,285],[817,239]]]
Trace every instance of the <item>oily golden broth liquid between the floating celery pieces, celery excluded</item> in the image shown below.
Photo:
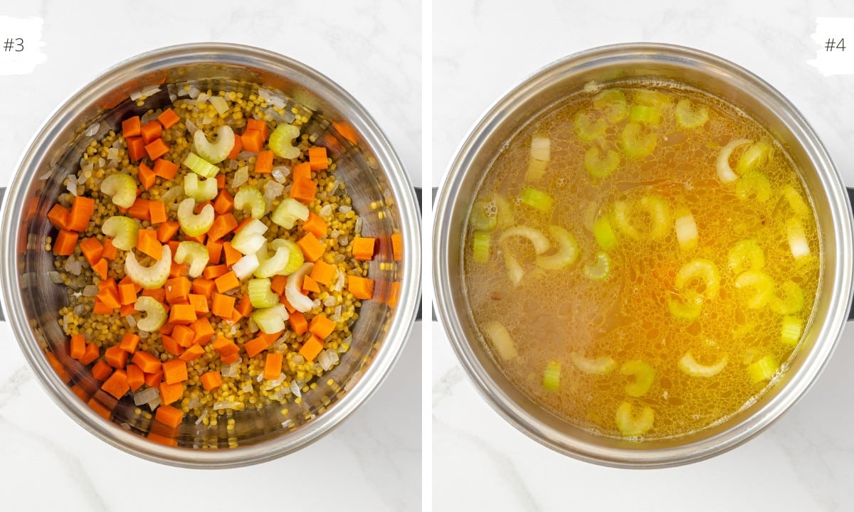
[[[645,101],[641,96],[648,91],[670,95],[669,103],[658,105],[660,124],[643,126],[643,133],[655,134],[657,139],[652,154],[633,159],[621,151],[620,134],[629,119],[609,123],[604,136],[593,142],[579,137],[576,113],[588,109],[594,117],[601,115],[592,103],[594,92],[579,92],[548,108],[512,137],[477,190],[477,199],[486,201],[490,214],[500,206],[496,196],[506,199],[512,220],[502,218],[489,231],[486,262],[472,259],[473,226],[469,226],[463,279],[471,316],[482,333],[484,325],[498,322],[510,334],[518,357],[509,360],[499,357],[488,335],[483,337],[505,375],[530,399],[567,422],[617,437],[627,435],[615,420],[620,405],[631,404],[635,418],[646,406],[654,412],[654,422],[642,439],[670,438],[732,416],[774,381],[773,377],[754,381],[749,365],[770,356],[785,368],[797,350],[796,344],[781,342],[784,315],[768,305],[758,309],[746,305],[752,291],[735,287],[738,276],[728,265],[730,249],[743,240],[755,241],[763,249],[762,271],[773,279],[775,295],[784,294],[781,284],[787,280],[803,291],[803,308],[789,316],[806,326],[819,281],[819,237],[810,208],[801,217],[810,256],[793,257],[786,223],[795,214],[782,190],[789,186],[806,204],[811,201],[785,148],[754,119],[696,90],[644,83],[621,84],[617,89],[623,91],[629,107]],[[689,98],[695,110],[707,108],[704,125],[677,124],[674,112],[682,98]],[[535,134],[549,137],[551,150],[541,179],[530,180],[525,172]],[[722,183],[718,177],[718,154],[740,138],[772,148],[769,160],[756,169],[770,183],[767,201],[742,199],[735,194],[735,183]],[[603,151],[616,150],[621,157],[617,170],[600,179],[591,177],[584,165],[584,155],[594,144]],[[729,160],[733,168],[749,146],[734,150]],[[553,198],[553,208],[541,212],[523,204],[519,197],[525,187],[546,192]],[[610,275],[604,281],[585,276],[582,267],[592,265],[594,255],[603,250],[591,231],[594,218],[612,218],[618,201],[637,205],[650,195],[664,198],[671,212],[687,207],[697,224],[697,247],[680,247],[672,218],[667,235],[652,240],[648,236],[651,219],[635,206],[629,212],[632,225],[641,233],[639,239],[615,227],[617,246],[606,251]],[[575,238],[579,257],[561,270],[543,270],[535,265],[529,241],[521,237],[499,241],[510,225],[541,231],[552,247],[555,240],[548,226],[558,225]],[[524,270],[516,286],[508,275],[505,253],[512,254]],[[720,291],[714,300],[702,301],[699,317],[676,318],[668,307],[668,300],[681,294],[675,286],[676,273],[695,259],[717,266]],[[688,288],[702,293],[704,286],[692,282]],[[572,363],[572,352],[587,358],[610,357],[616,366],[605,375],[588,375]],[[690,376],[677,365],[686,352],[699,364],[714,364],[723,356],[727,364],[711,377]],[[654,369],[652,385],[640,397],[627,394],[625,387],[635,378],[620,371],[631,360]],[[543,369],[549,362],[560,364],[556,390],[543,385]]]

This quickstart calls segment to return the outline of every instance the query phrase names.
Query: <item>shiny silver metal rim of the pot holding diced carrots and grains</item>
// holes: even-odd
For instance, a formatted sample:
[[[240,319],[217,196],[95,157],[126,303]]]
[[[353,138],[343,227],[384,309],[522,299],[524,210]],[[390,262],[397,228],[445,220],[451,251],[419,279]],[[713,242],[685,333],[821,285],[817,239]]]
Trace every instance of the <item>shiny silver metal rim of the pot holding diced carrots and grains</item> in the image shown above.
[[[311,90],[322,91],[321,96],[330,102],[334,101],[336,106],[341,108],[342,113],[347,114],[348,121],[369,143],[377,158],[378,166],[383,170],[389,188],[394,193],[396,205],[401,212],[401,233],[403,245],[407,247],[407,261],[406,265],[403,265],[401,277],[401,290],[405,292],[401,293],[395,309],[395,318],[389,323],[385,342],[379,348],[371,365],[364,370],[360,380],[336,404],[301,428],[276,439],[237,448],[199,450],[157,444],[128,432],[113,422],[104,420],[79,400],[61,381],[38,347],[38,341],[26,322],[21,302],[17,299],[19,294],[13,293],[13,290],[20,290],[19,276],[16,271],[18,257],[14,236],[20,225],[20,212],[23,207],[21,190],[25,189],[26,184],[36,179],[36,174],[32,171],[44,160],[44,148],[50,143],[51,135],[66,127],[67,120],[73,113],[87,107],[99,96],[111,90],[115,80],[122,77],[139,76],[163,67],[213,61],[231,65],[250,64],[271,73],[280,73],[283,70],[298,73],[303,80],[301,84],[311,84]],[[299,450],[320,439],[326,433],[330,433],[365,403],[388,376],[412,331],[420,291],[421,237],[420,212],[410,178],[404,171],[388,138],[360,102],[357,102],[336,82],[312,67],[266,49],[243,44],[213,42],[177,44],[153,49],[120,61],[68,96],[50,115],[50,118],[39,127],[18,160],[15,175],[4,199],[0,207],[0,218],[2,218],[0,221],[2,222],[0,224],[0,282],[3,283],[3,293],[0,294],[0,298],[2,298],[3,311],[12,325],[15,338],[27,362],[50,398],[82,428],[109,445],[149,461],[184,468],[234,468],[266,462]]]

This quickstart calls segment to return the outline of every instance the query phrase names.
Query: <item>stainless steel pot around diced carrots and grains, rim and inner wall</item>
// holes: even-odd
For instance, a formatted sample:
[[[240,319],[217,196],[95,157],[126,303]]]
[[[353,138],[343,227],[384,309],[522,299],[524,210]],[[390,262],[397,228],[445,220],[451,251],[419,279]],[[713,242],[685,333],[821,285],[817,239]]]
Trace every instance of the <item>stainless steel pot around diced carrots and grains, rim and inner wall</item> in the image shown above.
[[[339,177],[347,183],[354,208],[364,219],[363,232],[377,236],[380,244],[369,271],[376,281],[374,300],[364,301],[351,349],[329,374],[335,383],[319,381],[317,389],[303,393],[303,404],[288,404],[287,416],[279,412],[281,406],[238,413],[233,430],[226,430],[223,422],[218,427],[184,422],[173,438],[177,446],[170,446],[146,439],[153,422],[137,416],[132,401],[120,401],[105,420],[72,393],[74,382],[88,389],[97,389],[97,384],[67,357],[67,336],[57,317],[66,303],[66,291],[48,279],[53,257],[44,251],[44,238],[51,233],[46,214],[62,189],[62,179],[79,168],[86,144],[116,129],[131,113],[166,105],[170,92],[187,83],[202,90],[244,92],[262,84],[288,96],[289,108],[312,111],[304,132],[318,135],[337,160]],[[144,99],[143,107],[129,99],[134,92],[156,86],[159,92]],[[158,49],[120,63],[71,96],[21,158],[0,213],[3,308],[51,398],[99,438],[139,457],[178,466],[258,463],[328,433],[389,373],[418,305],[418,212],[412,185],[386,137],[365,109],[330,79],[300,62],[247,46],[188,44]],[[395,232],[402,234],[405,256],[401,261],[393,259],[389,242]],[[388,299],[398,291],[395,305]],[[55,355],[70,382],[51,368],[46,353]]]

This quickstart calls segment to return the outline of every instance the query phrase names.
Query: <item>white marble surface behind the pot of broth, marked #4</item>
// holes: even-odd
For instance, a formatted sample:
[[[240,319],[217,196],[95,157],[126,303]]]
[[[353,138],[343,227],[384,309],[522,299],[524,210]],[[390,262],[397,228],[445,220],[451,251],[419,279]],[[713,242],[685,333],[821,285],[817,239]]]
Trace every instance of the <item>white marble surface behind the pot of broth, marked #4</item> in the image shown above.
[[[582,49],[656,41],[705,49],[757,73],[810,120],[854,186],[854,77],[807,61],[817,16],[845,2],[434,3],[434,172],[441,183],[480,115],[539,67]],[[524,5],[524,7],[523,7]],[[840,34],[854,41],[854,34]],[[846,50],[847,58],[851,50]],[[854,326],[809,393],[735,451],[682,468],[637,471],[580,463],[518,433],[476,393],[439,324],[433,329],[433,505],[436,510],[854,509]]]

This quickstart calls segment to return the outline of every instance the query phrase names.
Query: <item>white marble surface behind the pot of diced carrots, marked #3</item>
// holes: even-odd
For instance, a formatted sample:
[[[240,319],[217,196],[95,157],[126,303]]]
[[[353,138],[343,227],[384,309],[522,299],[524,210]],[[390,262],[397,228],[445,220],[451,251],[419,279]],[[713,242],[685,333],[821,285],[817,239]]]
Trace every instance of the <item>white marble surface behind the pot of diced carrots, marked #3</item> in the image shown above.
[[[336,80],[377,119],[420,183],[418,5],[26,1],[4,2],[0,14],[43,18],[48,55],[31,74],[0,76],[0,185],[38,125],[105,68],[209,40],[272,49]],[[417,510],[419,333],[416,325],[389,379],[341,428],[277,461],[209,472],[149,463],[86,433],[48,398],[0,323],[0,509]]]

